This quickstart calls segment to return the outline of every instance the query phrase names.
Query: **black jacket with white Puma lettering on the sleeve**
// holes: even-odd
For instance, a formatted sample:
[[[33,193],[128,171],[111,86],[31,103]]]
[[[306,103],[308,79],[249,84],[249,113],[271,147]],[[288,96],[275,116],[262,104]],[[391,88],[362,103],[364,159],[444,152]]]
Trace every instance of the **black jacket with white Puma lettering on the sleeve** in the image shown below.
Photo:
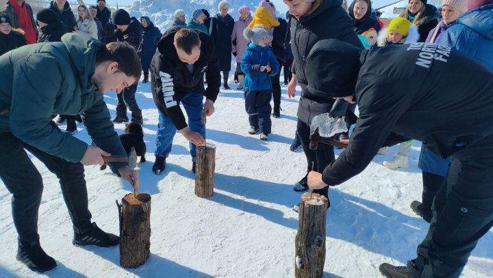
[[[162,36],[151,62],[151,88],[154,103],[166,114],[177,129],[187,127],[179,101],[187,92],[204,94],[216,101],[220,86],[220,73],[214,41],[211,36],[197,31],[201,40],[201,55],[190,73],[186,64],[178,58],[173,45],[175,33],[183,27],[172,27]],[[207,89],[203,86],[203,74]]]

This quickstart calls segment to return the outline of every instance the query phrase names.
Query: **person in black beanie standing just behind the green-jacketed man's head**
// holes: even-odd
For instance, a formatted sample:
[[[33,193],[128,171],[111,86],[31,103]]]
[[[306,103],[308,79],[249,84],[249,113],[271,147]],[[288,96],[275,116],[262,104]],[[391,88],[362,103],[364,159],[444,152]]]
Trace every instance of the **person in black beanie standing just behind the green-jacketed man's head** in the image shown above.
[[[116,40],[118,42],[128,42],[137,51],[140,56],[142,51],[142,24],[137,18],[132,17],[125,10],[117,10],[113,15],[113,23],[116,25],[114,32]],[[127,105],[131,111],[131,120],[133,122],[140,123],[142,125],[142,110],[138,107],[135,99],[135,93],[137,91],[138,82],[131,84],[131,86],[123,89],[123,92],[117,94],[118,104],[116,105],[116,117],[113,123],[125,123],[128,122],[127,117]]]

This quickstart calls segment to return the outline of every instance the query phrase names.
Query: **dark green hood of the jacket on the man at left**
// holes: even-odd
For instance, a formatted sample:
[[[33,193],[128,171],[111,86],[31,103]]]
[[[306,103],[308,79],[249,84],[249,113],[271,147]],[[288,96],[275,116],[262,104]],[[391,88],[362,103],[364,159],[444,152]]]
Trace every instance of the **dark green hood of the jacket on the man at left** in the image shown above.
[[[94,84],[91,78],[96,68],[96,55],[104,45],[89,36],[73,33],[62,36],[62,43],[73,62],[72,66],[77,70],[82,90],[92,92]]]

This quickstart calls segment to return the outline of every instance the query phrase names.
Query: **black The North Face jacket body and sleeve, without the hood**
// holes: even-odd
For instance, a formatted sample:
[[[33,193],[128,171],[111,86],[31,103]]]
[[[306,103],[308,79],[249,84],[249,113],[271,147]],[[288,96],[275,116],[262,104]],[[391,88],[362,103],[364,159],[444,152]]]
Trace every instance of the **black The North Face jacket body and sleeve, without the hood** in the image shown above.
[[[456,159],[493,157],[493,73],[448,47],[414,43],[362,51],[359,107],[348,147],[323,171],[336,186],[362,172],[390,133]]]

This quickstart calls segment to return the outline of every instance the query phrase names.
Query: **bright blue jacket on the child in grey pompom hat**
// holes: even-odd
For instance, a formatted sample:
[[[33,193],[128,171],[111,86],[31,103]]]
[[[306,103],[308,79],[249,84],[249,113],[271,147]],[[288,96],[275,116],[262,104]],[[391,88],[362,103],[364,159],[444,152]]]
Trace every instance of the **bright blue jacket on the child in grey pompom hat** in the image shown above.
[[[260,66],[270,66],[272,71],[260,72]],[[260,47],[249,43],[247,50],[243,53],[241,68],[245,74],[243,87],[245,90],[261,91],[272,90],[270,77],[279,72],[279,62],[270,47]]]

